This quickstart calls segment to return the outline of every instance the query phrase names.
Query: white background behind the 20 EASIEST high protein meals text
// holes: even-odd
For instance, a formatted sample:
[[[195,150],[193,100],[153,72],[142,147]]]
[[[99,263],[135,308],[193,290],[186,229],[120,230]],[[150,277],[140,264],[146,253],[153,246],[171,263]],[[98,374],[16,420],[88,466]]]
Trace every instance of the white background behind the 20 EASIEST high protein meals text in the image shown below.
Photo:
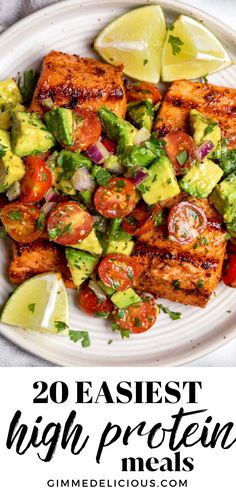
[[[93,396],[96,397],[102,381],[106,376],[106,369],[19,369],[18,373],[13,368],[0,370],[0,458],[1,458],[1,493],[13,495],[16,493],[24,495],[48,495],[61,493],[82,493],[90,495],[92,488],[49,488],[47,480],[67,480],[84,478],[129,478],[129,479],[161,479],[179,480],[187,479],[187,488],[145,488],[145,493],[160,493],[163,495],[188,495],[222,494],[235,495],[235,450],[236,445],[229,450],[222,450],[219,446],[214,449],[203,448],[201,446],[183,449],[183,457],[193,457],[195,469],[190,473],[122,473],[122,457],[141,456],[144,459],[149,457],[173,457],[173,453],[168,450],[168,446],[159,449],[149,449],[146,446],[146,437],[131,437],[127,447],[122,445],[121,440],[104,449],[100,465],[95,462],[95,455],[98,443],[104,427],[108,421],[113,424],[118,423],[123,431],[128,426],[136,426],[140,421],[146,421],[150,429],[154,424],[162,422],[168,428],[172,425],[171,415],[176,414],[183,406],[185,411],[208,409],[202,416],[201,425],[205,424],[207,416],[213,417],[213,426],[219,421],[223,426],[228,421],[236,420],[235,403],[235,369],[189,369],[188,378],[186,370],[174,368],[132,368],[132,369],[110,369],[107,379],[111,393],[115,397],[115,387],[117,382],[125,381],[160,381],[164,388],[167,381],[201,381],[202,391],[197,394],[198,404],[187,404],[188,395],[183,393],[182,401],[178,404],[104,404],[103,399],[99,404],[75,404],[75,381],[92,381]],[[50,378],[49,378],[50,376]],[[49,385],[54,380],[65,381],[69,386],[69,399],[65,404],[33,404],[36,395],[33,383],[38,380],[48,381]],[[159,395],[159,397],[161,394]],[[145,396],[144,396],[145,397]],[[89,434],[90,438],[84,451],[79,456],[73,456],[69,450],[62,450],[60,444],[56,450],[53,460],[44,463],[38,459],[37,453],[43,456],[45,447],[31,449],[25,455],[19,456],[14,452],[14,448],[8,450],[5,446],[6,436],[10,421],[15,411],[22,411],[22,422],[25,422],[29,431],[32,431],[35,419],[43,416],[42,424],[45,426],[50,421],[64,423],[72,409],[76,410],[76,422],[81,423],[84,428],[84,435]],[[186,420],[185,420],[186,421]],[[184,422],[184,426],[192,421]],[[212,431],[213,429],[209,427]],[[40,427],[39,427],[40,429]],[[40,429],[42,433],[42,428]],[[236,437],[236,426],[234,426]],[[128,493],[125,488],[96,488],[95,493]],[[144,493],[143,488],[129,488],[129,493]]]

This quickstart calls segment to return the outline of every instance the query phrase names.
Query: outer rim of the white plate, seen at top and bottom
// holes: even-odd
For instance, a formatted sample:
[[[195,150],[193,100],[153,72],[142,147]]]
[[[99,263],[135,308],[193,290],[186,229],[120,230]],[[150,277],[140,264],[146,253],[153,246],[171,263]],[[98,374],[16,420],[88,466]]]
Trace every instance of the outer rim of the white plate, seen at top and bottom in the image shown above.
[[[211,29],[221,33],[221,36],[224,37],[225,39],[227,39],[229,43],[232,44],[232,41],[236,42],[236,31],[233,28],[229,27],[226,23],[221,22],[221,20],[219,18],[213,16],[212,14],[209,14],[208,12],[205,12],[204,10],[202,10],[198,7],[195,7],[193,5],[187,4],[185,2],[180,2],[178,0],[160,0],[160,1],[154,0],[152,2],[150,2],[149,0],[128,0],[128,2],[132,3],[134,8],[135,7],[138,8],[138,7],[145,6],[145,5],[159,4],[159,5],[161,5],[161,7],[163,7],[163,9],[173,10],[174,12],[179,11],[179,13],[181,13],[181,14],[190,15],[196,19],[203,18],[204,24],[206,23],[208,26],[212,26]],[[62,0],[60,2],[51,4],[51,5],[48,5],[44,8],[42,8],[42,9],[39,9],[39,10],[33,12],[32,14],[26,16],[25,18],[17,21],[15,24],[10,26],[8,29],[6,29],[5,31],[0,33],[0,46],[2,43],[5,44],[8,41],[8,39],[11,38],[12,35],[15,36],[21,30],[24,31],[24,28],[27,28],[29,26],[29,23],[32,20],[33,21],[35,20],[36,23],[38,23],[40,21],[40,18],[43,18],[47,14],[50,15],[55,10],[57,10],[57,11],[60,9],[63,10],[63,8],[68,9],[68,7],[71,9],[73,9],[73,7],[83,8],[83,7],[88,7],[89,4],[92,5],[94,3],[95,3],[94,0],[80,0],[79,3],[78,3],[78,0]],[[103,0],[102,3],[103,3],[103,6],[105,4],[111,4],[111,3],[113,5],[113,2],[110,2],[109,0]],[[127,3],[126,0],[118,0],[117,2],[114,3],[114,7],[117,7],[119,4],[122,6],[122,4],[125,5],[126,3]],[[217,349],[224,347],[224,345],[226,345],[226,343],[229,343],[232,339],[234,339],[236,337],[236,323],[231,324],[230,328],[231,329],[228,333],[228,338],[225,339],[225,341],[223,341],[223,342],[220,341],[219,336],[213,335],[212,340],[211,340],[211,344],[210,345],[205,344],[205,346],[207,345],[207,348],[204,347],[204,349],[202,349],[202,350],[189,349],[188,351],[185,352],[184,356],[182,355],[181,358],[172,357],[170,364],[167,363],[164,365],[161,365],[161,364],[159,365],[156,361],[151,360],[149,364],[145,364],[145,365],[141,364],[140,366],[143,366],[143,367],[144,366],[156,366],[156,367],[164,366],[164,367],[167,367],[167,366],[181,366],[184,364],[189,364],[192,361],[194,361],[200,357],[204,357],[204,356],[212,353],[213,351],[216,351]],[[27,338],[24,339],[23,336],[19,337],[17,335],[17,332],[16,333],[9,332],[9,334],[7,334],[7,329],[5,328],[5,326],[3,327],[2,324],[0,324],[0,333],[8,341],[14,343],[15,345],[17,345],[21,349],[26,350],[26,351],[30,352],[31,354],[48,361],[49,363],[59,365],[59,366],[68,366],[68,367],[69,366],[101,367],[101,365],[91,364],[89,361],[88,361],[88,363],[77,362],[76,364],[73,364],[71,362],[70,364],[68,364],[68,361],[69,361],[68,359],[66,359],[64,357],[58,357],[58,355],[52,355],[51,352],[47,348],[41,350],[40,348],[38,348],[37,344],[34,344],[31,341],[28,341]],[[20,340],[20,342],[19,342],[19,340]],[[138,365],[138,363],[131,365],[131,367],[134,367],[137,365]],[[111,364],[108,364],[105,366],[119,367],[119,366],[127,366],[127,364],[125,364],[125,365],[114,364],[113,365],[111,363]]]

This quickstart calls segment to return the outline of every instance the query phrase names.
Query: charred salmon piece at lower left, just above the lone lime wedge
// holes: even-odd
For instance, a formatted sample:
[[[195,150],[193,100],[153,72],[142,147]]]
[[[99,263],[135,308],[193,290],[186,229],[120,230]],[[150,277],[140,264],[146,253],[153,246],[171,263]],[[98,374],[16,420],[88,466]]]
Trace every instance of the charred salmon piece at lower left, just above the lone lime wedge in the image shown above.
[[[9,278],[13,284],[22,284],[34,275],[46,272],[60,272],[67,287],[75,287],[62,249],[40,239],[31,244],[13,243],[13,260]]]

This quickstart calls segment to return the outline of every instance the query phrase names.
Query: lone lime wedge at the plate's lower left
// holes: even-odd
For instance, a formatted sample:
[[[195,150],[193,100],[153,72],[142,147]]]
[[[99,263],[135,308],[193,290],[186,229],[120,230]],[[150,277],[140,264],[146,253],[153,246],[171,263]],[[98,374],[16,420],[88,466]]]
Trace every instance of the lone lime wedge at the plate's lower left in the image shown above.
[[[1,321],[46,333],[57,333],[58,321],[68,326],[69,303],[61,275],[44,273],[20,285],[5,304]],[[60,335],[65,334],[67,328],[60,331]]]

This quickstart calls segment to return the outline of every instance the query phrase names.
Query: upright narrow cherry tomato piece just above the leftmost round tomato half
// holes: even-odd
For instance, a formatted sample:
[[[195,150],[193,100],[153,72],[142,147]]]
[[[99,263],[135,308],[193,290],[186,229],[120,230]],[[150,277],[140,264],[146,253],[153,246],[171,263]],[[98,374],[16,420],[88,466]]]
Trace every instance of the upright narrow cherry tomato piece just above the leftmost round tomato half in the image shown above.
[[[52,174],[47,164],[37,156],[24,159],[25,175],[21,181],[21,201],[37,203],[52,187]]]

